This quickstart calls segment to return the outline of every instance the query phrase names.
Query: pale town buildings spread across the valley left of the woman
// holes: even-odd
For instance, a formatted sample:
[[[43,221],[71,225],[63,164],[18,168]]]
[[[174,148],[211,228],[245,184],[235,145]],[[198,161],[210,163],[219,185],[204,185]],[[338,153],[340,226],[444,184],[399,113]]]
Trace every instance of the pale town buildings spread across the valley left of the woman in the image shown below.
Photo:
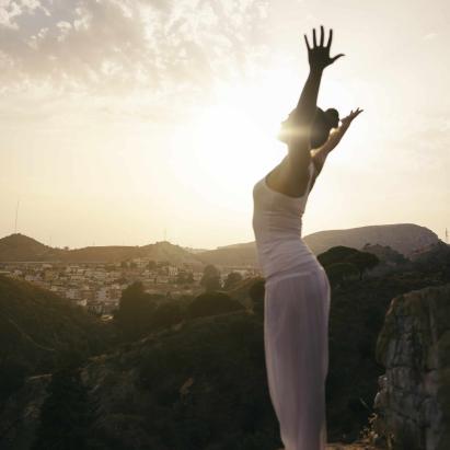
[[[256,268],[219,267],[221,284],[231,272],[243,277],[259,275]],[[66,298],[93,314],[112,318],[118,308],[122,291],[141,281],[146,292],[165,297],[198,295],[204,275],[198,267],[178,267],[168,262],[136,258],[120,263],[0,263],[0,275],[23,279]]]

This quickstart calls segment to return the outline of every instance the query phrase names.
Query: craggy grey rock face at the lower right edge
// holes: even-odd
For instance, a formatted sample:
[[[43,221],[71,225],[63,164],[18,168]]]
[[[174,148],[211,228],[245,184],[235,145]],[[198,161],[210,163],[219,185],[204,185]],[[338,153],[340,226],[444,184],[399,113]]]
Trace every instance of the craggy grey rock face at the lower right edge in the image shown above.
[[[450,285],[392,300],[377,360],[374,426],[388,448],[450,449]]]

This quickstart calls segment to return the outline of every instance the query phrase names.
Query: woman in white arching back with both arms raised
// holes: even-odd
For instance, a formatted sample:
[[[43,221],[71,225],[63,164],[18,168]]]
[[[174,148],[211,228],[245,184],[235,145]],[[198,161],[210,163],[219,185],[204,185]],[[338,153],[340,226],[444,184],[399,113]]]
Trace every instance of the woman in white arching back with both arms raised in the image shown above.
[[[336,109],[316,107],[333,31],[324,45],[313,30],[304,36],[310,73],[297,107],[281,124],[288,154],[253,188],[253,229],[265,276],[264,343],[269,395],[286,450],[324,450],[325,378],[328,366],[330,284],[325,270],[301,239],[308,194],[327,154],[337,146],[358,108],[342,119]]]

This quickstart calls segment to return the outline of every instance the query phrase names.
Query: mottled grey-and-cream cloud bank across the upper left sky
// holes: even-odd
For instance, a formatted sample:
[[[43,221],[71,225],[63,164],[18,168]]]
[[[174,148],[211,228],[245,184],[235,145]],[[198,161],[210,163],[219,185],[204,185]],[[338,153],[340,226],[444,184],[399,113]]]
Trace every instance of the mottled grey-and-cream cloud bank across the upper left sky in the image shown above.
[[[265,0],[0,0],[1,92],[205,89],[261,45]]]

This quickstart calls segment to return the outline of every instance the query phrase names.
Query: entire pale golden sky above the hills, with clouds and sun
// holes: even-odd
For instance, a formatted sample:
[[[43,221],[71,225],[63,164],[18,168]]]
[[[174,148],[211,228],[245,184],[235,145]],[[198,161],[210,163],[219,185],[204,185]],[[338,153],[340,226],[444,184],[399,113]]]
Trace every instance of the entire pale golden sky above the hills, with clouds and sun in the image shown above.
[[[450,228],[447,0],[0,0],[0,236],[53,246],[254,240],[253,185],[287,149],[303,34],[333,27],[319,106],[365,112],[303,234]]]

